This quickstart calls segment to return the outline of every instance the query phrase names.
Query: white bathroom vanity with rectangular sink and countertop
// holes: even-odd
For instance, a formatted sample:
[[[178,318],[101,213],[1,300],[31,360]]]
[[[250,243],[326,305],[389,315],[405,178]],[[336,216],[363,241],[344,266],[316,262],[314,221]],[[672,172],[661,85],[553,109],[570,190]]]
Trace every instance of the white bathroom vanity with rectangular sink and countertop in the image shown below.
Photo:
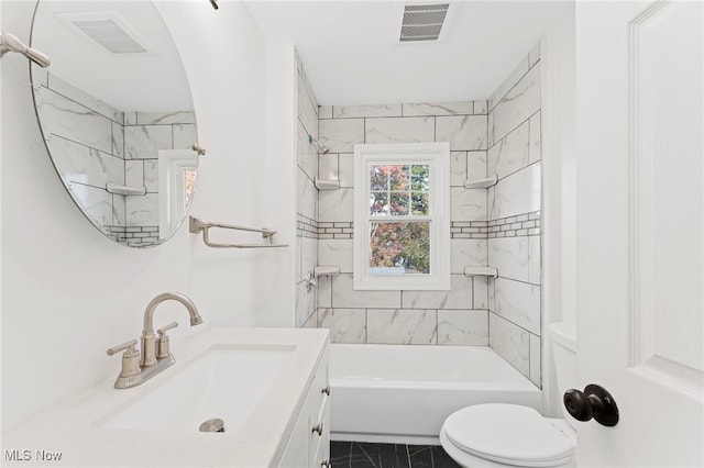
[[[3,434],[3,466],[329,465],[327,330],[213,327],[173,347],[151,380],[110,379]]]

